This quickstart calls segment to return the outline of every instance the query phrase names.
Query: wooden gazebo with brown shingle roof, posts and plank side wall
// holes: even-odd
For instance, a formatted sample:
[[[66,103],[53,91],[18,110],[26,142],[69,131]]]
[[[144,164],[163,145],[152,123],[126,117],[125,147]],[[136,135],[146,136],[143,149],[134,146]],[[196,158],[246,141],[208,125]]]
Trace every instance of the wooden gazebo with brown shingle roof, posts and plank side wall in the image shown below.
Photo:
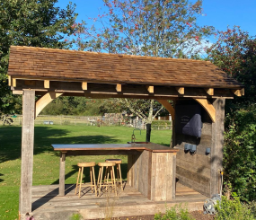
[[[22,94],[22,214],[31,212],[34,119],[60,95],[161,102],[172,115],[172,147],[180,149],[176,177],[207,197],[218,193],[225,99],[243,95],[243,84],[210,62],[12,46],[8,77],[13,94]],[[204,111],[202,136],[175,134],[175,106],[194,103]],[[186,142],[197,154],[184,153]]]

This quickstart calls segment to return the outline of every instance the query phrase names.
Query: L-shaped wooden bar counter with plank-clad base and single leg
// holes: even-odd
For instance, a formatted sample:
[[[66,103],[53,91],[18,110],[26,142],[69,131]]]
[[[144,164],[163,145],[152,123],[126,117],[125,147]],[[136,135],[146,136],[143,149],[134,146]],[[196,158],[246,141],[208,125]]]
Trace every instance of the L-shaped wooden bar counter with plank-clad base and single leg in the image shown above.
[[[67,155],[128,154],[128,184],[154,201],[175,198],[176,154],[179,150],[154,143],[52,145],[60,151],[59,196],[65,196]]]

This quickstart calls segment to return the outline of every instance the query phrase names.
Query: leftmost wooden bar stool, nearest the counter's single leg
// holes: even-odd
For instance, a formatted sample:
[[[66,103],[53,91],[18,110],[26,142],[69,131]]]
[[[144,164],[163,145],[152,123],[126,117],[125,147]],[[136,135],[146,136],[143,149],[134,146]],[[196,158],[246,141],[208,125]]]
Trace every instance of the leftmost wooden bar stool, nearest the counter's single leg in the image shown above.
[[[78,176],[77,176],[77,180],[76,180],[75,195],[76,195],[76,190],[77,190],[77,187],[79,184],[79,194],[78,194],[79,198],[80,198],[80,193],[81,193],[81,185],[82,185],[84,167],[90,167],[91,185],[89,185],[89,186],[92,187],[92,193],[93,193],[93,187],[94,187],[95,195],[97,196],[97,189],[96,189],[97,185],[96,185],[95,172],[94,172],[95,165],[96,165],[95,162],[77,163],[77,166],[79,167],[79,171],[78,171]],[[79,178],[80,178],[80,183],[79,183]]]

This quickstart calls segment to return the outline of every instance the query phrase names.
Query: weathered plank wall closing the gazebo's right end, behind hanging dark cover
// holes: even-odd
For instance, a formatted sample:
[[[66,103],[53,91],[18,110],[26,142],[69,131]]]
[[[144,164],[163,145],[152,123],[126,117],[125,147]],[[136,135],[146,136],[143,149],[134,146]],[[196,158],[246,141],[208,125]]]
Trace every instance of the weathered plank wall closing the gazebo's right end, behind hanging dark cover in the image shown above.
[[[177,101],[177,104],[193,104],[191,100]],[[185,136],[175,134],[175,148],[180,149],[177,154],[176,177],[181,184],[210,196],[211,154],[206,154],[207,147],[212,146],[212,122],[207,112],[202,108],[202,135]],[[185,143],[197,145],[196,154],[184,152]]]

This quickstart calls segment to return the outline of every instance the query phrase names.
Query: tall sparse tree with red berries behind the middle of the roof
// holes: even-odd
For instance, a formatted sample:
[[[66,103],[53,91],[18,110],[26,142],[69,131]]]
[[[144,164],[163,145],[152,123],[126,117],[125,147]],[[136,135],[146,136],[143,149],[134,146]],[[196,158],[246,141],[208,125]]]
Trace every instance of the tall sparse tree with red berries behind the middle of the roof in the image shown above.
[[[94,18],[96,24],[92,27],[84,23],[85,27],[82,25],[77,31],[75,42],[79,49],[151,57],[197,57],[203,38],[214,30],[197,24],[197,16],[202,14],[201,0],[195,4],[188,0],[104,0],[104,3],[108,12]],[[132,106],[135,101],[125,103]],[[146,120],[150,129],[157,103],[144,103],[150,103],[146,119],[139,110],[133,109],[133,113]]]

